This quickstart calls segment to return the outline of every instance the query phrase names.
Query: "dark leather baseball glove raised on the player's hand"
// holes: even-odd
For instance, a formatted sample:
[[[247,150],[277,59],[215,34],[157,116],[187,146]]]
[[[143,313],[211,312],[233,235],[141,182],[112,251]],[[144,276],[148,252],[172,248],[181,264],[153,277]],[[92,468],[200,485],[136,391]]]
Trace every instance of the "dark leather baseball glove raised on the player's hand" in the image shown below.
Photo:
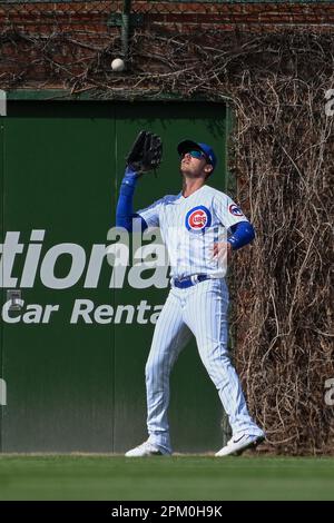
[[[126,162],[136,172],[143,174],[159,167],[163,156],[163,142],[159,136],[141,130],[137,136]]]

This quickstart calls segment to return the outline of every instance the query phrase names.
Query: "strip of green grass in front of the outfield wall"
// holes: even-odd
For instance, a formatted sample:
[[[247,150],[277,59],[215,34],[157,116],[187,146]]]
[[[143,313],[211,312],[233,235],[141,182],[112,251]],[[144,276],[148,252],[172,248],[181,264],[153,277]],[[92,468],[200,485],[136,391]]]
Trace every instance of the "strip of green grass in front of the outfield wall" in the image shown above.
[[[0,500],[334,500],[334,458],[2,455]]]

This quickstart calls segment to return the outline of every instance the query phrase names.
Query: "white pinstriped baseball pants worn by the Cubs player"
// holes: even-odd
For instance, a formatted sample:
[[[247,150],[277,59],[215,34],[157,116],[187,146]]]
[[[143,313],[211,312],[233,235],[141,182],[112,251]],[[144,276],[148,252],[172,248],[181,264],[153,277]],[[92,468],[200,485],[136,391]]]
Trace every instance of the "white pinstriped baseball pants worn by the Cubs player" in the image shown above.
[[[228,289],[224,278],[207,279],[191,287],[171,287],[156,324],[146,364],[147,427],[149,441],[171,452],[167,409],[169,374],[191,333],[199,356],[214,382],[233,435],[262,435],[248,414],[239,378],[228,348]]]

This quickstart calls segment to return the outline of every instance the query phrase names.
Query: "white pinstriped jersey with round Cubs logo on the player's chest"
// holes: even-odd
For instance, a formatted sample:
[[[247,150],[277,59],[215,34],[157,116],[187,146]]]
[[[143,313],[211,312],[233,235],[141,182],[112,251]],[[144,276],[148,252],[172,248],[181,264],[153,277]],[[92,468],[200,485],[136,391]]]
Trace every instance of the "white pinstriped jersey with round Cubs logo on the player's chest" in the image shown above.
[[[168,195],[137,211],[148,227],[159,227],[167,247],[170,275],[185,278],[208,274],[222,278],[226,267],[213,258],[215,241],[226,239],[229,227],[247,218],[229,196],[207,185],[185,198]]]

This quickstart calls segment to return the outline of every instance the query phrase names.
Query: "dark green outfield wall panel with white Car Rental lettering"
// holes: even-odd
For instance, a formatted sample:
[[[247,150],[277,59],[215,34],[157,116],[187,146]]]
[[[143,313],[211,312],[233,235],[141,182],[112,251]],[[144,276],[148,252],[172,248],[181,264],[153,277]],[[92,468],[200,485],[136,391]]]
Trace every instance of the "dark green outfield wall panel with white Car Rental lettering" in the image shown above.
[[[145,362],[168,293],[168,270],[143,268],[136,246],[125,272],[105,255],[125,156],[140,129],[163,137],[136,208],[180,190],[185,138],[214,146],[210,185],[225,190],[227,108],[10,99],[0,127],[1,451],[122,453],[146,437]],[[224,442],[195,341],[171,375],[169,420],[176,452]]]

